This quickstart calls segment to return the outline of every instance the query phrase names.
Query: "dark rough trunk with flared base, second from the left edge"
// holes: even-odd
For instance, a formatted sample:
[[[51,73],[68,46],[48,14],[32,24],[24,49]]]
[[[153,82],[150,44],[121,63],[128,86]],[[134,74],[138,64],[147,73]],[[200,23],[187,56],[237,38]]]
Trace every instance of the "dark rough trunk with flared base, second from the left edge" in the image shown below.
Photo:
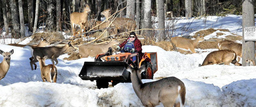
[[[12,13],[12,28],[13,28],[13,32],[12,32],[12,37],[15,38],[20,38],[20,26],[19,26],[19,22],[18,22],[18,13],[16,11],[16,1],[15,0],[9,0],[10,3],[10,8],[11,8],[11,13]]]

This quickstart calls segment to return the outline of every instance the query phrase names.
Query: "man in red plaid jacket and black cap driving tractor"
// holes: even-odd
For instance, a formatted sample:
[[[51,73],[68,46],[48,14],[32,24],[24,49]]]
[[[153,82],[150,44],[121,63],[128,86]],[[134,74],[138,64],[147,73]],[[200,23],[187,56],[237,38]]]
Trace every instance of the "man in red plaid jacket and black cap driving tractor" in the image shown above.
[[[133,31],[129,34],[127,40],[117,46],[117,50],[119,50],[120,47],[123,47],[123,50],[121,50],[121,52],[139,53],[139,60],[143,56],[141,48],[142,44]],[[132,57],[132,61],[136,61],[135,56]]]

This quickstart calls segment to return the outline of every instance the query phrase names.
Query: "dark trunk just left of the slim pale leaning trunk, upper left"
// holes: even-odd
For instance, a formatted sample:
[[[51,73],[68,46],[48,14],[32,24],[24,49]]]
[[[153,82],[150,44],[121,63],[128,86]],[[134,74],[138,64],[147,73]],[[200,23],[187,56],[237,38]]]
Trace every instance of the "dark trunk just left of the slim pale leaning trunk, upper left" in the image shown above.
[[[34,0],[28,0],[28,31],[33,32]]]

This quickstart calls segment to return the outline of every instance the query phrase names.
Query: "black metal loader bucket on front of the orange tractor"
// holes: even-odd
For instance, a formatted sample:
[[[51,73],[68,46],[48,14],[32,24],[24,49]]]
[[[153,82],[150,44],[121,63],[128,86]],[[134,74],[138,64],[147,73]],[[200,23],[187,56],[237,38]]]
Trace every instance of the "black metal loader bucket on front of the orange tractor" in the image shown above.
[[[126,62],[84,62],[79,74],[83,80],[127,80]]]

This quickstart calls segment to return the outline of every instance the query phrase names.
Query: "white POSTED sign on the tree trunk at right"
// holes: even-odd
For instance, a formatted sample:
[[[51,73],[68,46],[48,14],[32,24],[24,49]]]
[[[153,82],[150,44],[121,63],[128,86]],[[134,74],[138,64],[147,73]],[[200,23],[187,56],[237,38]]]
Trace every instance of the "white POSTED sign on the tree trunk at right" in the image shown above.
[[[256,41],[256,26],[246,26],[244,28],[244,40]]]

